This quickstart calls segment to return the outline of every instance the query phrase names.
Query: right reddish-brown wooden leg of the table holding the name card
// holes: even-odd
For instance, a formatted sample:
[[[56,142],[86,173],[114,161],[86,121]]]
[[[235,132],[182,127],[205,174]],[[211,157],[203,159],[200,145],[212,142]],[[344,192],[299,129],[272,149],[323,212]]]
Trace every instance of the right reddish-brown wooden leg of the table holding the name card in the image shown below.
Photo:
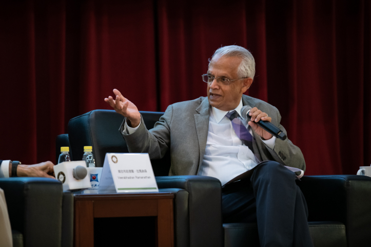
[[[157,246],[174,246],[173,202],[171,199],[158,200]]]

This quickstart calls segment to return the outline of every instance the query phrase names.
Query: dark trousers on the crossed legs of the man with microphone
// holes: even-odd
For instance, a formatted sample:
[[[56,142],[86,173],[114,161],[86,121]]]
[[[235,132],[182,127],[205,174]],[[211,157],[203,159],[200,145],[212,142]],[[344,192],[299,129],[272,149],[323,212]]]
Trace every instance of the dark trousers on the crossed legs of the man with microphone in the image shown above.
[[[260,163],[250,179],[223,188],[223,223],[257,222],[261,246],[313,246],[295,178],[276,161]]]

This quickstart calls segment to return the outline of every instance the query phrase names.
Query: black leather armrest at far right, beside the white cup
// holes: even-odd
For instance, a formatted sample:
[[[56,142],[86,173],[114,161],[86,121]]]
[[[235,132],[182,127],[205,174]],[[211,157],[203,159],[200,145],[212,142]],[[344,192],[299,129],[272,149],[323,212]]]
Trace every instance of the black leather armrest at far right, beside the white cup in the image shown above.
[[[371,232],[371,178],[304,176],[297,182],[308,205],[308,221],[340,221],[348,246],[362,246]]]

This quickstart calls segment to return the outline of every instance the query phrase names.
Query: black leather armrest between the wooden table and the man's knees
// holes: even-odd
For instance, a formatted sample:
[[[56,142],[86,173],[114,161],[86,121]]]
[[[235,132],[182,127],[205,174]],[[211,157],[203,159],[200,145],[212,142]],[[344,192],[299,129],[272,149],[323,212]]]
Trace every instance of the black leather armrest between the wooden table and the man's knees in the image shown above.
[[[222,246],[222,185],[206,176],[156,177],[160,189],[181,188],[189,193],[190,246]]]

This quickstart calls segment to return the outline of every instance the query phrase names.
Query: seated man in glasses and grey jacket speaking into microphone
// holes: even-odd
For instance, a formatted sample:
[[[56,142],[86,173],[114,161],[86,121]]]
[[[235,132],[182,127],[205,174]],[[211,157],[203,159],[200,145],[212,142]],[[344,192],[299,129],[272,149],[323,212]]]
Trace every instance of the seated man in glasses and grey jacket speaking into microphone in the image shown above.
[[[125,117],[120,131],[130,152],[156,159],[170,148],[169,175],[221,181],[224,223],[257,222],[261,246],[313,246],[296,175],[282,165],[305,170],[303,155],[288,139],[276,139],[256,124],[268,121],[286,133],[276,107],[243,94],[254,75],[248,50],[219,48],[203,75],[207,98],[170,105],[149,131],[136,106],[119,90],[113,90],[115,100],[105,101]],[[240,116],[243,105],[252,107],[251,121]],[[227,184],[250,169],[250,178]]]

